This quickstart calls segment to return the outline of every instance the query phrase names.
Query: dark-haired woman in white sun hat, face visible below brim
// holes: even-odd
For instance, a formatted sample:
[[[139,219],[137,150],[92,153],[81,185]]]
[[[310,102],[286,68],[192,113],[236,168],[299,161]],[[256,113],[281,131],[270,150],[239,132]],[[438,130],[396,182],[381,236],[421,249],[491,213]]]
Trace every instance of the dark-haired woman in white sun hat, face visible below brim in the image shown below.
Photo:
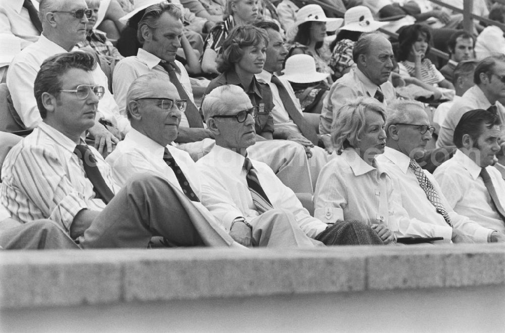
[[[307,5],[296,13],[296,22],[291,29],[296,35],[290,41],[288,58],[296,54],[312,56],[316,62],[317,71],[333,74],[328,66],[330,51],[324,43],[327,31],[335,31],[342,24],[341,18],[327,18],[319,5]],[[329,78],[331,83],[331,78]]]

